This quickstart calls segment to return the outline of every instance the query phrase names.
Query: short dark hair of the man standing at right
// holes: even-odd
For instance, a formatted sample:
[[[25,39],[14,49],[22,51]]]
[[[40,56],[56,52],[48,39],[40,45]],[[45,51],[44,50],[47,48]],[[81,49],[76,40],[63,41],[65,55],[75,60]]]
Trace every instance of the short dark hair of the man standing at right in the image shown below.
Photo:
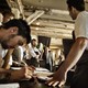
[[[68,8],[76,8],[78,11],[85,10],[85,1],[84,0],[67,0]]]

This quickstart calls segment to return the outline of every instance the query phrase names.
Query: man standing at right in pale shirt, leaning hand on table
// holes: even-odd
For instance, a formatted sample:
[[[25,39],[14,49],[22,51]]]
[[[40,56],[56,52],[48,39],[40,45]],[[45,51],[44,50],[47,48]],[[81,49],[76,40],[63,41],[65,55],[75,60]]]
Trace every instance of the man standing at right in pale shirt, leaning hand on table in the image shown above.
[[[66,61],[47,84],[50,86],[64,85],[67,72],[77,64],[70,88],[88,88],[88,12],[85,11],[84,0],[67,0],[67,4],[69,15],[76,20],[76,40]]]

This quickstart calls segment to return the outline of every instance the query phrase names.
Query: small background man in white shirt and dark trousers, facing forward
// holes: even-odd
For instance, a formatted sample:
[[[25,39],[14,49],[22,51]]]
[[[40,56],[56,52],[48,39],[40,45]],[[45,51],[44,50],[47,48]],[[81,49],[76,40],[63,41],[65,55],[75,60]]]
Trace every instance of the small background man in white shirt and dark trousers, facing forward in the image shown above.
[[[29,50],[26,51],[28,51],[29,57],[26,57],[26,63],[28,65],[33,65],[37,67],[41,53],[36,46],[37,46],[37,43],[35,38],[33,38],[31,43],[28,44]]]

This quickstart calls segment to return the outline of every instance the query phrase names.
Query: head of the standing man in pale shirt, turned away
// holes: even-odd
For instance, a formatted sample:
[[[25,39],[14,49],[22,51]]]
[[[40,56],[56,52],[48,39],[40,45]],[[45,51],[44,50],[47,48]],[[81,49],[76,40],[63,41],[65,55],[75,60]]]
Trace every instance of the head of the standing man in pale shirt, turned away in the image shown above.
[[[78,12],[85,10],[85,1],[84,0],[67,0],[69,15],[73,20],[77,18]]]

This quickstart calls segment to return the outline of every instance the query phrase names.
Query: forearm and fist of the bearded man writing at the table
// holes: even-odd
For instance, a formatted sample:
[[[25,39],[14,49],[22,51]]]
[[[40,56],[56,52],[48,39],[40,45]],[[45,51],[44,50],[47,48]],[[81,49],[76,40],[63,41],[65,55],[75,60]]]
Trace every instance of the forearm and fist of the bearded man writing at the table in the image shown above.
[[[6,82],[19,81],[22,79],[31,79],[34,73],[33,67],[22,67],[21,69],[3,69],[0,68],[0,80]]]

